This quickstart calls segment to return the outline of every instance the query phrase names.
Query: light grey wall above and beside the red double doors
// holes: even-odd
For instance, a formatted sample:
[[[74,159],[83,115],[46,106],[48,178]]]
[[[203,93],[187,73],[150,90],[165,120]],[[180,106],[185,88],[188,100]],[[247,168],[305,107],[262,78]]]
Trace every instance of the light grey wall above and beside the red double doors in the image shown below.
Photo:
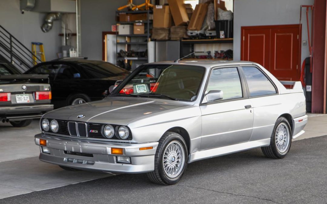
[[[300,6],[314,0],[235,0],[234,60],[241,58],[241,26],[299,24]],[[309,12],[311,31],[311,11]],[[308,42],[305,8],[302,8],[302,41]],[[310,34],[311,35],[311,34]],[[301,63],[309,56],[308,45],[301,47]]]

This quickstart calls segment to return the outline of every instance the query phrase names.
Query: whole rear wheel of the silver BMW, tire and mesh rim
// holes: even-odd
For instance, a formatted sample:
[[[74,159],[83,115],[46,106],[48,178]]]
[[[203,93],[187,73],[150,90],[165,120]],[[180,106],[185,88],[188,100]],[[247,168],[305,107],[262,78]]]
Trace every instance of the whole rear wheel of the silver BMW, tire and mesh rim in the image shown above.
[[[266,157],[281,159],[288,153],[292,142],[291,126],[286,118],[277,119],[271,135],[270,145],[262,147],[261,150]]]

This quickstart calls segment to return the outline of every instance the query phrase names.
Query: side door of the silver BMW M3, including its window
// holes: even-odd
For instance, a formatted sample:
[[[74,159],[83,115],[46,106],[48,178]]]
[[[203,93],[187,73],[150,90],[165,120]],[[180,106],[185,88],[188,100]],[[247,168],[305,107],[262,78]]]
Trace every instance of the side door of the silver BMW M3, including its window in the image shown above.
[[[239,69],[214,68],[210,73],[205,94],[211,90],[220,90],[223,91],[223,98],[200,105],[202,150],[250,140],[253,111]]]

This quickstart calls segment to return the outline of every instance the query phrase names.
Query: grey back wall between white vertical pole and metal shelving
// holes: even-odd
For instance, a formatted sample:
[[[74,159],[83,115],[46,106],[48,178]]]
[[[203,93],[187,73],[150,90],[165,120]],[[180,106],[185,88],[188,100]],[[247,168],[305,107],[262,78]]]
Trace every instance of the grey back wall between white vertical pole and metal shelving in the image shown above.
[[[111,31],[116,24],[117,8],[124,6],[126,0],[81,0],[81,56],[102,60],[102,32]],[[144,0],[134,0],[134,4],[142,4]],[[116,47],[112,47],[116,50]]]

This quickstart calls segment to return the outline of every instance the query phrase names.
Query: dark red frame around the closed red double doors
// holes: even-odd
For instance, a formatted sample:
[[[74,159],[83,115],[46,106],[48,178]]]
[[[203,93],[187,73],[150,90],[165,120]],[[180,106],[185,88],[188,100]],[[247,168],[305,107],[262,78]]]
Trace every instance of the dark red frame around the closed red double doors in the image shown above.
[[[302,51],[302,24],[284,24],[284,25],[255,25],[255,26],[241,26],[241,56],[240,59],[244,60],[244,41],[245,41],[245,31],[246,30],[253,30],[253,29],[278,29],[278,28],[299,28],[299,72],[301,72],[301,51]],[[270,31],[271,32],[271,31]],[[269,39],[269,43],[271,42],[271,35]],[[270,47],[270,45],[269,45]],[[269,49],[270,53],[271,49]],[[269,54],[270,56],[270,54]],[[270,65],[270,57],[269,57],[269,65]]]

